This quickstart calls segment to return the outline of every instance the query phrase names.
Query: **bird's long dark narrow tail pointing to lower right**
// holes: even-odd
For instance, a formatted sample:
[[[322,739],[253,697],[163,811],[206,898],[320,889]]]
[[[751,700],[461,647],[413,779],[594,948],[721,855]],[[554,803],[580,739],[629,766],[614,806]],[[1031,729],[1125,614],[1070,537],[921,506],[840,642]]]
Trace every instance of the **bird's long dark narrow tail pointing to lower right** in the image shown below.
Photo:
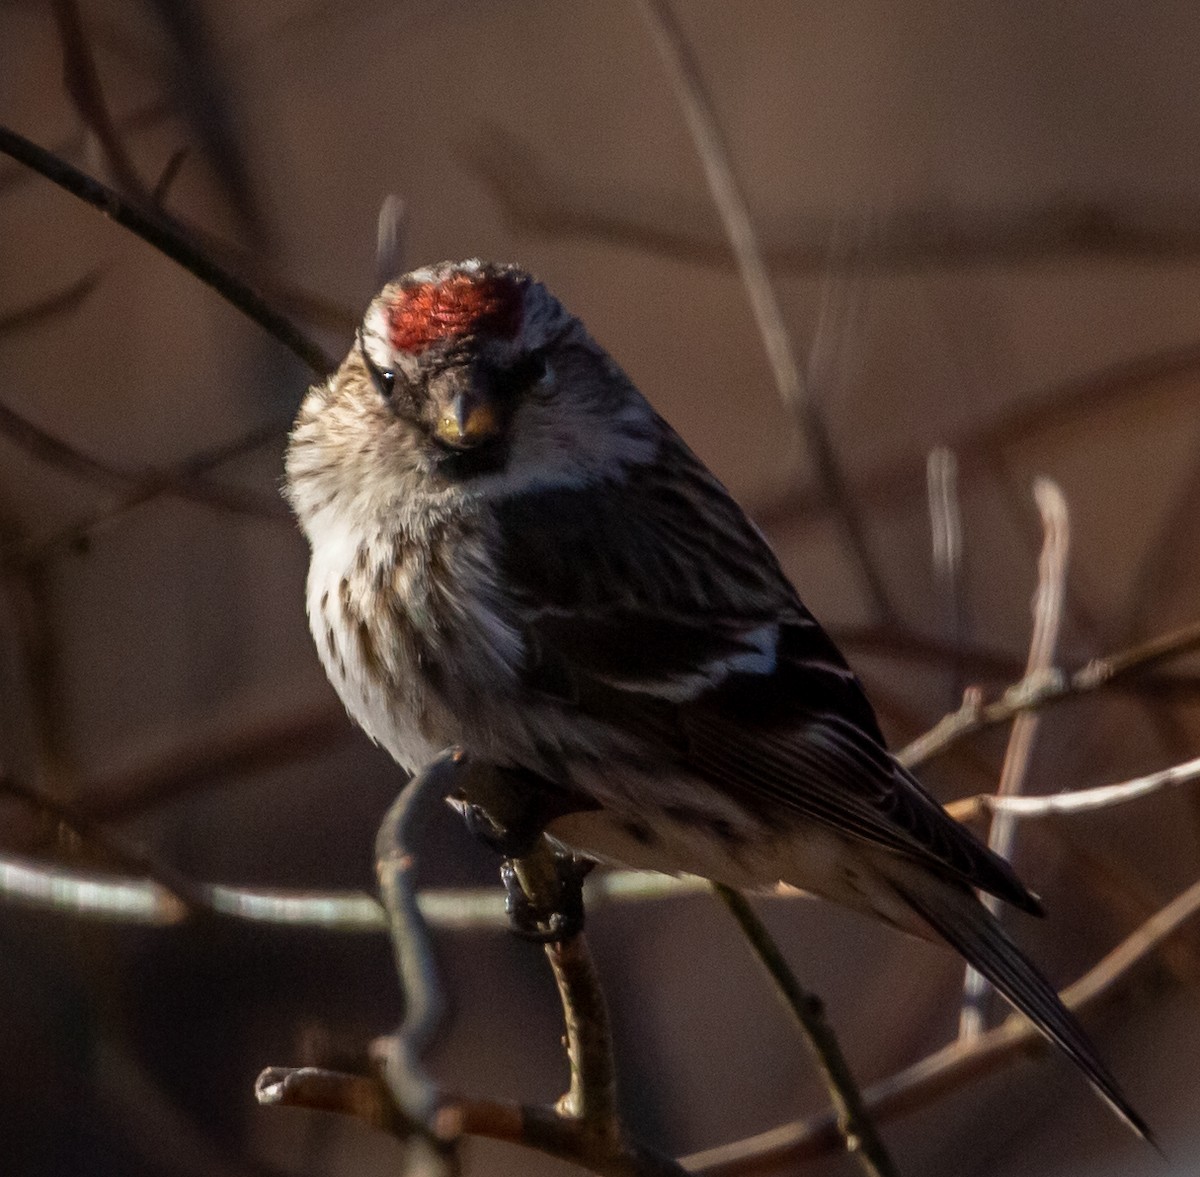
[[[1100,1062],[1084,1028],[974,893],[941,881],[935,891],[928,878],[906,881],[896,877],[900,871],[889,873],[900,897],[1028,1017],[1139,1136],[1154,1145],[1150,1127]]]

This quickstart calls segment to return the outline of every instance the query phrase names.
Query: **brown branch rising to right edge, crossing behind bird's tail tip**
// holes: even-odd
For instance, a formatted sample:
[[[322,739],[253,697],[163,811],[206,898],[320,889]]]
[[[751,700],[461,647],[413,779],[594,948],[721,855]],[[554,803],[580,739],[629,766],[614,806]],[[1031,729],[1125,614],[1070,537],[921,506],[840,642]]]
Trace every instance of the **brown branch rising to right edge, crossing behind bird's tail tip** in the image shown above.
[[[1064,989],[1060,993],[1063,1004],[1078,1013],[1110,993],[1136,965],[1198,913],[1200,883],[1193,883]],[[1007,1065],[1026,1051],[1044,1047],[1045,1040],[1033,1023],[1013,1014],[995,1029],[970,1041],[950,1043],[912,1067],[874,1083],[863,1092],[863,1099],[877,1119],[894,1119]],[[684,1157],[682,1163],[689,1171],[703,1177],[751,1177],[796,1165],[840,1146],[836,1117],[827,1113],[694,1153]]]

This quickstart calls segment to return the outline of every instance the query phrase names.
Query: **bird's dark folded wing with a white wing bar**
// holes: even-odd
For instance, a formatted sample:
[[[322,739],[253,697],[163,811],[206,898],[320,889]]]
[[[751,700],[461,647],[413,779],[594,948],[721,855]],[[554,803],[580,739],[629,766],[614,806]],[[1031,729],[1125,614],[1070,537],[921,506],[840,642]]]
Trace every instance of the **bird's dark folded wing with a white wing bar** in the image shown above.
[[[625,474],[496,509],[530,691],[653,740],[768,818],[790,811],[1037,909],[888,753],[838,648],[683,442],[667,432],[659,461]]]

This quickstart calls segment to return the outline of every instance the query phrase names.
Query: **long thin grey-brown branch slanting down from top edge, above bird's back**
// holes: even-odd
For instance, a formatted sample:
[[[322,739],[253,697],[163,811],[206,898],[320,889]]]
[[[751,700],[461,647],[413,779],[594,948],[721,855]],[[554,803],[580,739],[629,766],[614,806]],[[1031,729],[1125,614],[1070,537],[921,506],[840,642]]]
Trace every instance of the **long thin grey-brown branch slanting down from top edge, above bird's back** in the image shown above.
[[[892,620],[896,617],[895,606],[875,568],[866,528],[850,496],[820,407],[812,400],[800,373],[770,274],[758,246],[750,209],[734,175],[700,66],[668,0],[641,0],[641,8],[670,74],[704,169],[709,193],[737,260],[775,389],[784,407],[799,424],[816,466],[822,497],[838,516],[876,614],[881,620]]]

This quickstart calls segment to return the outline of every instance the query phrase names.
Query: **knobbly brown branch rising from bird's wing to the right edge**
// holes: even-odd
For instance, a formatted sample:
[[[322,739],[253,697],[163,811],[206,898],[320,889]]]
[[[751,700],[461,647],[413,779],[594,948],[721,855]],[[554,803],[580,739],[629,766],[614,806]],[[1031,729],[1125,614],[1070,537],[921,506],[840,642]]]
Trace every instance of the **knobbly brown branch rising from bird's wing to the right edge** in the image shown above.
[[[967,735],[1007,723],[1021,711],[1040,710],[1063,699],[1087,695],[1196,649],[1200,649],[1200,621],[1132,645],[1118,654],[1093,659],[1069,674],[1052,671],[1032,681],[1024,679],[992,703],[982,703],[968,692],[959,710],[943,716],[924,735],[901,749],[896,758],[907,768],[917,768]]]

